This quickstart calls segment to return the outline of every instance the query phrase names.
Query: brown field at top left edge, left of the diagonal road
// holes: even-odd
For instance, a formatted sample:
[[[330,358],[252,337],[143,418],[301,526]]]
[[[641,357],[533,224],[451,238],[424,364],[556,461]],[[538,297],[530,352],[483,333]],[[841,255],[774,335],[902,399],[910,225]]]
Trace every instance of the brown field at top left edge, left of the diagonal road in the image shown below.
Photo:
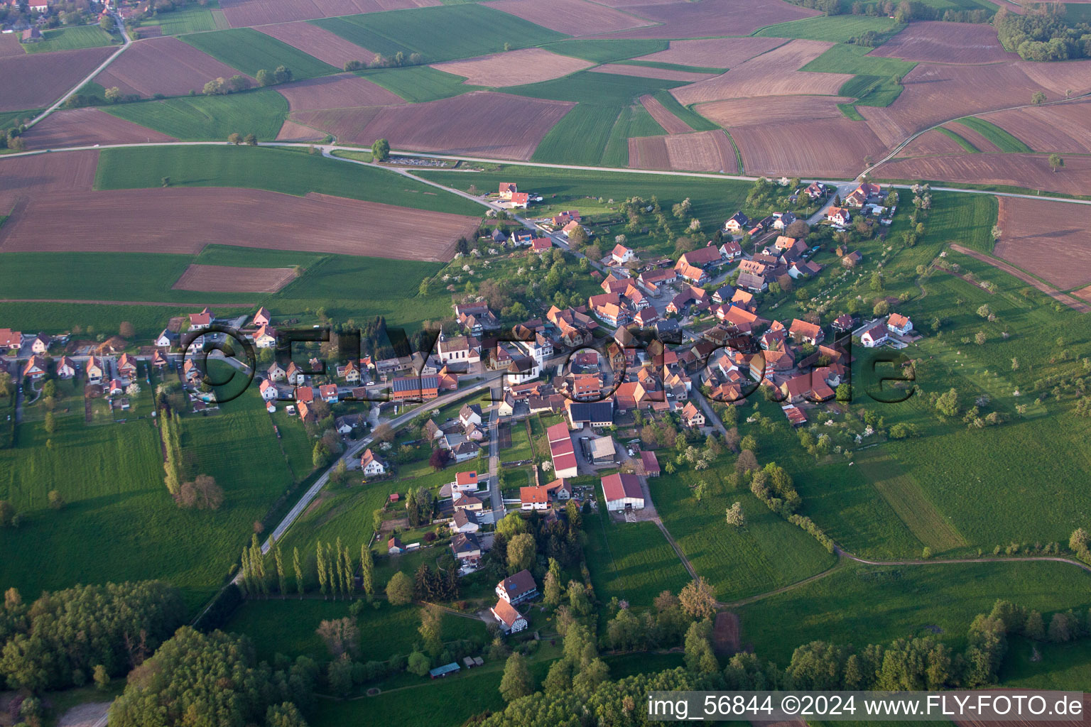
[[[117,48],[84,48],[0,57],[0,111],[49,106]]]

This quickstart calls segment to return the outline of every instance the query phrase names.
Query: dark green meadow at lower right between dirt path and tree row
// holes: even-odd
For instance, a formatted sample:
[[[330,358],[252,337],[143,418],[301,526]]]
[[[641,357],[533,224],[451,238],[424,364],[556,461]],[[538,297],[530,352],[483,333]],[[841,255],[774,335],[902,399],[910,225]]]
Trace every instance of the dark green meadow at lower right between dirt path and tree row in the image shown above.
[[[852,644],[933,635],[966,646],[973,617],[1005,598],[1043,613],[1087,613],[1091,575],[1056,562],[851,565],[739,610],[744,643],[777,664],[813,639]]]

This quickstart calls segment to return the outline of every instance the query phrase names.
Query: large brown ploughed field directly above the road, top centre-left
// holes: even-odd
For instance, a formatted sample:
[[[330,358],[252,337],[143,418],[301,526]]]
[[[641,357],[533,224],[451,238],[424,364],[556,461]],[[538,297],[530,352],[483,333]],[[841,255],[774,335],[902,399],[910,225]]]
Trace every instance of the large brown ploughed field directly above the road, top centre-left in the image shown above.
[[[417,152],[457,152],[529,159],[546,133],[575,106],[508,94],[479,92],[427,104],[304,111],[296,121],[323,129],[341,143]]]

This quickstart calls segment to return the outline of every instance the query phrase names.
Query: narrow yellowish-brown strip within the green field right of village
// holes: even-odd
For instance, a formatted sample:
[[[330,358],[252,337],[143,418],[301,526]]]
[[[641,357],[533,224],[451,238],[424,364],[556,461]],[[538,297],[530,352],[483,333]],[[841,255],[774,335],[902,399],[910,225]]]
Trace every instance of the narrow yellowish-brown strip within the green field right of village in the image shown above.
[[[889,455],[870,453],[858,459],[856,464],[895,514],[922,543],[939,550],[967,545],[962,535],[944,519],[912,477],[900,471]]]

